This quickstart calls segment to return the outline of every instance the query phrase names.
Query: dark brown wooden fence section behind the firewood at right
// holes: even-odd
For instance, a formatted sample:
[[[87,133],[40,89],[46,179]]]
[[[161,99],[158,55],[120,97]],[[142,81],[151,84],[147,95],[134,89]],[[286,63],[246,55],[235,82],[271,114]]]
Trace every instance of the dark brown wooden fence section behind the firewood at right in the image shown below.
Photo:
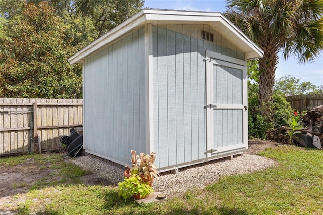
[[[290,102],[293,109],[299,112],[309,111],[317,106],[323,105],[323,95],[293,95],[287,96],[287,101]]]

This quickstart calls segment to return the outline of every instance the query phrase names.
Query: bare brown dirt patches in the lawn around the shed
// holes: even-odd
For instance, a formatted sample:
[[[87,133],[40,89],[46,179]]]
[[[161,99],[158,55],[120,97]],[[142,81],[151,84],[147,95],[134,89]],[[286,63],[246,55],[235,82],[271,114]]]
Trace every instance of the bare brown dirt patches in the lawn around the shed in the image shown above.
[[[266,148],[275,148],[280,143],[264,141],[264,140],[249,140],[249,149],[247,154],[257,154]],[[62,157],[65,154],[62,154]],[[67,159],[66,162],[69,162]],[[31,185],[37,180],[50,177],[57,170],[50,168],[50,164],[37,164],[33,159],[27,159],[24,164],[8,167],[9,165],[0,166],[0,214],[10,214],[11,208],[16,208],[17,205],[24,201],[24,195],[13,198],[17,194],[24,194],[30,190]],[[81,177],[81,181],[85,185],[110,185],[111,183],[95,174],[89,174]],[[12,213],[14,214],[14,213]]]

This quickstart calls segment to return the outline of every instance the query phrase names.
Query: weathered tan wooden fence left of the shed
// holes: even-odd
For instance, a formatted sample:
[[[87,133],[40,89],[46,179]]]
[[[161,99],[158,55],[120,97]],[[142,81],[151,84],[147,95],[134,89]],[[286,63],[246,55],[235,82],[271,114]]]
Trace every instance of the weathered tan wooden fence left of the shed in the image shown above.
[[[0,156],[61,148],[82,126],[82,108],[82,99],[0,98]]]

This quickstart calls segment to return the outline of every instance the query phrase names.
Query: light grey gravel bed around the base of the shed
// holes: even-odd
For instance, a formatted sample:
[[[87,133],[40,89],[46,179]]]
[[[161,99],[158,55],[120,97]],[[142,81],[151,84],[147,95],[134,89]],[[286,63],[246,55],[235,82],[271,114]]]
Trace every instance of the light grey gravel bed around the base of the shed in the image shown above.
[[[72,159],[72,162],[115,185],[123,180],[123,172],[126,169],[122,165],[94,155],[80,156]],[[223,158],[181,168],[177,174],[161,173],[160,180],[154,180],[153,189],[168,196],[175,196],[190,188],[204,188],[205,185],[216,182],[223,175],[250,173],[273,165],[276,165],[274,160],[258,155],[235,155],[233,160]]]

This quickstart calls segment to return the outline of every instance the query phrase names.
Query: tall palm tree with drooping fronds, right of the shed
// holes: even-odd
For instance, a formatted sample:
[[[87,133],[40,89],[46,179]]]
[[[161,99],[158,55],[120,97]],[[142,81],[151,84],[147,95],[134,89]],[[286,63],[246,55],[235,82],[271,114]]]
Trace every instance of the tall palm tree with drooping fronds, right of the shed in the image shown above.
[[[284,60],[313,62],[323,50],[323,0],[226,0],[225,13],[263,49],[259,59],[259,105],[272,121],[270,110],[275,71],[282,51]],[[305,72],[305,71],[304,71]]]

